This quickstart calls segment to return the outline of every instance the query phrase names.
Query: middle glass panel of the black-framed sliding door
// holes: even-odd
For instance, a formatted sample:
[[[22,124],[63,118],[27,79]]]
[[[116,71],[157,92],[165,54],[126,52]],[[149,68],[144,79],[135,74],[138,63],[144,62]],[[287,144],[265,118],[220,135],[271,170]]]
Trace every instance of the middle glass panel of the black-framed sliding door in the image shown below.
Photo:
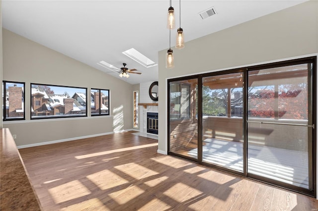
[[[202,161],[243,172],[243,73],[202,78]]]

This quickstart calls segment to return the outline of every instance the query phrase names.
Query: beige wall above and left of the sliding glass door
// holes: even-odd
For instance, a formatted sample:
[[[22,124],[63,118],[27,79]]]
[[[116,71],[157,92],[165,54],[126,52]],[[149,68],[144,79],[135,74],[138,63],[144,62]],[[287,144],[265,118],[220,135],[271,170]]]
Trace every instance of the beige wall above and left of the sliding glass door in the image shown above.
[[[173,52],[173,69],[165,68],[166,50],[159,52],[159,114],[167,113],[167,78],[318,54],[318,1],[187,42],[184,49]],[[159,153],[167,152],[166,125],[166,115],[159,115]]]

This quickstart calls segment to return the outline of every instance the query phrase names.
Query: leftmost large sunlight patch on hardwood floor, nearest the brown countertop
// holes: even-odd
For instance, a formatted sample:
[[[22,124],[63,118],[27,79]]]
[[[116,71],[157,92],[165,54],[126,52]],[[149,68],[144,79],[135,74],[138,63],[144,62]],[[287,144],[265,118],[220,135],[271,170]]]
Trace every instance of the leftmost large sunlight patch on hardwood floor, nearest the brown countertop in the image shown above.
[[[91,194],[79,180],[50,188],[48,191],[56,204]]]

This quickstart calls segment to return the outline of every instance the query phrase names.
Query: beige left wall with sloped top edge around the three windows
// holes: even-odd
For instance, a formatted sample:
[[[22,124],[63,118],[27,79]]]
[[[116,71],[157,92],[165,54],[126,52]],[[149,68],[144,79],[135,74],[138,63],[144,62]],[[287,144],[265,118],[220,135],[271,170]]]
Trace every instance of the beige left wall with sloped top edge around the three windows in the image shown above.
[[[133,128],[133,85],[6,29],[2,41],[3,80],[25,82],[26,120],[3,122],[17,146]],[[109,89],[111,116],[30,120],[30,83]]]

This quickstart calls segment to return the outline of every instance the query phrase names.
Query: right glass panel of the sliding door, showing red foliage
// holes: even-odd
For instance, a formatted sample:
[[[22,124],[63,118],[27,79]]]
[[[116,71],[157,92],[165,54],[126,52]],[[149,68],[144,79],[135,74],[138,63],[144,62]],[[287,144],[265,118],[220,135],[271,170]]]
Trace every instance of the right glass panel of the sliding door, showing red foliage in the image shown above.
[[[248,71],[248,173],[312,189],[312,65]]]

